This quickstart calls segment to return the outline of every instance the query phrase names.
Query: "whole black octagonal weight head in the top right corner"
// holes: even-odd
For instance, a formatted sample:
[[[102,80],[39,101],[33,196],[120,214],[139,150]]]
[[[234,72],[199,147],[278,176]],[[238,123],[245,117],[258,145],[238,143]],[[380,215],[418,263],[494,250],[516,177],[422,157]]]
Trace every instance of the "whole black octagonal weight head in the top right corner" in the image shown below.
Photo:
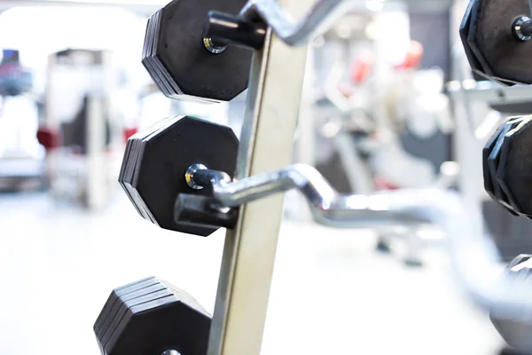
[[[460,38],[473,72],[505,85],[532,83],[528,0],[471,0]]]

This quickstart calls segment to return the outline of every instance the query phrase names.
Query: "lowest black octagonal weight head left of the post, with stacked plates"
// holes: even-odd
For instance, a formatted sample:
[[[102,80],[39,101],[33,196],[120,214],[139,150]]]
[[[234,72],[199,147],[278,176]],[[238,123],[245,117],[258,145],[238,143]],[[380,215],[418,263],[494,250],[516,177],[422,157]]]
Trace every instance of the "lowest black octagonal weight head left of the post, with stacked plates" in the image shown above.
[[[210,323],[192,296],[152,277],[115,288],[94,332],[105,355],[206,354]]]

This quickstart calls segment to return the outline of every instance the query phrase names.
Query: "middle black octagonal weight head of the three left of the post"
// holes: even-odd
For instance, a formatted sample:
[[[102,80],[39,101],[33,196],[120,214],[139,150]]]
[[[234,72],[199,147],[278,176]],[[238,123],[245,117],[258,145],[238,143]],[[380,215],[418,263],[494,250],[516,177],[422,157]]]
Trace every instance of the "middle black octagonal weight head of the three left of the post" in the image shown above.
[[[163,229],[208,236],[236,224],[238,209],[212,208],[208,184],[231,183],[238,149],[228,127],[191,116],[163,119],[129,138],[119,182],[141,217]]]

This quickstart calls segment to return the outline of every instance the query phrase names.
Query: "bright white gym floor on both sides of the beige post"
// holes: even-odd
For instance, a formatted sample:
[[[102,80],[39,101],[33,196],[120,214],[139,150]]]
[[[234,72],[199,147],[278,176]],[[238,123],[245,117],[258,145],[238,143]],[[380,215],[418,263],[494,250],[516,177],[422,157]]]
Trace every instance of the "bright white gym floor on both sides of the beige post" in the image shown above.
[[[0,354],[97,355],[92,325],[113,288],[158,276],[212,312],[223,231],[201,238],[143,220],[123,193],[89,214],[44,193],[0,195]],[[438,248],[423,268],[374,251],[370,232],[285,222],[263,354],[496,354]],[[155,354],[154,354],[155,355]]]

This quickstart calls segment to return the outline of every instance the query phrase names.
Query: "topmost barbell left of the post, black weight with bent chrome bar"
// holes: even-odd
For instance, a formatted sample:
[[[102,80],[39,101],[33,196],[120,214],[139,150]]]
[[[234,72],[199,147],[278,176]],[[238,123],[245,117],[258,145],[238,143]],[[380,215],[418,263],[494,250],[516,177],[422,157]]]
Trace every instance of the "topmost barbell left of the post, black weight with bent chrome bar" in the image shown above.
[[[266,28],[304,44],[348,12],[346,4],[321,0],[293,23],[277,0],[174,0],[148,20],[142,62],[168,98],[230,101],[247,88],[249,50],[262,48]]]

